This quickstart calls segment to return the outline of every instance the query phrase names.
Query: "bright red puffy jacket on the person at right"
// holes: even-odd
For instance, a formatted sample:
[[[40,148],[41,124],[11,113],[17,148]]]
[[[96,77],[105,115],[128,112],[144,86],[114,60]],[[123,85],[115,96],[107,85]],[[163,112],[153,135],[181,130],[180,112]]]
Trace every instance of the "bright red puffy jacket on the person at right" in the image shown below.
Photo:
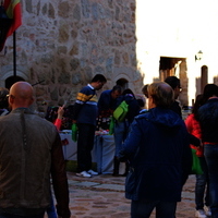
[[[202,140],[202,130],[199,126],[199,122],[194,118],[194,113],[191,113],[186,119],[185,119],[185,125],[187,128],[187,132],[195,137],[198,137]],[[196,156],[197,157],[203,157],[204,156],[204,149],[203,147],[195,147],[194,145],[190,145],[191,148],[196,149]]]

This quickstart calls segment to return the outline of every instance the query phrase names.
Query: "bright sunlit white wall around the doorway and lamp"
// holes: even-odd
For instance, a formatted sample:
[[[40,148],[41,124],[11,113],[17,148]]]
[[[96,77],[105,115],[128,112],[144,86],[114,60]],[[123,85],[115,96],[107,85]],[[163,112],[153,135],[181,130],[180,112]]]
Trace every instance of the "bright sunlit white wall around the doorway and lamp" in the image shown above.
[[[217,76],[218,2],[216,0],[136,0],[137,66],[144,84],[159,77],[160,57],[185,58],[189,101],[196,93],[201,68],[208,66],[208,83]],[[203,59],[195,61],[202,50]]]

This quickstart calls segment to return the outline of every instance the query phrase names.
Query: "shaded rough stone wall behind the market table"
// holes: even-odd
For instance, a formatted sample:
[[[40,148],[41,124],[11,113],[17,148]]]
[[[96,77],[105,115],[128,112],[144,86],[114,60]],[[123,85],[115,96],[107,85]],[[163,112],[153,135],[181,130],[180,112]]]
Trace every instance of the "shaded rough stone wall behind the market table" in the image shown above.
[[[141,93],[136,70],[134,0],[22,0],[16,31],[17,74],[25,74],[41,106],[72,101],[82,86],[102,73],[111,88],[119,78]],[[12,68],[12,37],[0,76]],[[7,72],[5,72],[7,71]]]

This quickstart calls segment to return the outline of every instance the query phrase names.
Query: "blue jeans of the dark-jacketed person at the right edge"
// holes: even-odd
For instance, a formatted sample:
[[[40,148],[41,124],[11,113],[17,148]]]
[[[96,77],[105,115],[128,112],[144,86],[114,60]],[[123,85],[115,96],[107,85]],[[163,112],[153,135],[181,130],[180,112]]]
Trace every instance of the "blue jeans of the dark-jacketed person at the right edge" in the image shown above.
[[[211,218],[218,218],[218,144],[204,146],[204,156],[209,173]]]

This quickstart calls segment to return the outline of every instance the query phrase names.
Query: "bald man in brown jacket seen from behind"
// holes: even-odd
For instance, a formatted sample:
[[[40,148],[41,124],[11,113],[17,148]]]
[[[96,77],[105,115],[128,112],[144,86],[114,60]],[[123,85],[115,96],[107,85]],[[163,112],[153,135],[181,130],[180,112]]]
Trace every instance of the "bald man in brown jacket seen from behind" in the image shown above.
[[[29,110],[33,87],[12,85],[12,111],[0,118],[0,217],[44,218],[50,204],[50,174],[57,213],[70,217],[61,140],[56,126]]]

